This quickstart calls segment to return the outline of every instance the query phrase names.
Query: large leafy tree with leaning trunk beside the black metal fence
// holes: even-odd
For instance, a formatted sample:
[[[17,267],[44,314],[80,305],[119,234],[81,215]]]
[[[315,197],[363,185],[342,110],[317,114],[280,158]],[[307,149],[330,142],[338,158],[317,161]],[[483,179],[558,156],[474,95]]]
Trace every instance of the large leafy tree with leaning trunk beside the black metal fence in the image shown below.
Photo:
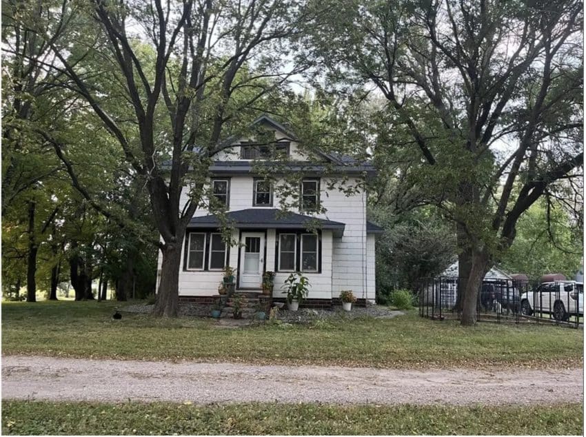
[[[523,213],[581,177],[582,3],[334,3],[307,33],[314,57],[334,86],[374,87],[387,129],[409,138],[386,149],[410,150],[401,178],[456,224],[458,305],[473,325]]]

